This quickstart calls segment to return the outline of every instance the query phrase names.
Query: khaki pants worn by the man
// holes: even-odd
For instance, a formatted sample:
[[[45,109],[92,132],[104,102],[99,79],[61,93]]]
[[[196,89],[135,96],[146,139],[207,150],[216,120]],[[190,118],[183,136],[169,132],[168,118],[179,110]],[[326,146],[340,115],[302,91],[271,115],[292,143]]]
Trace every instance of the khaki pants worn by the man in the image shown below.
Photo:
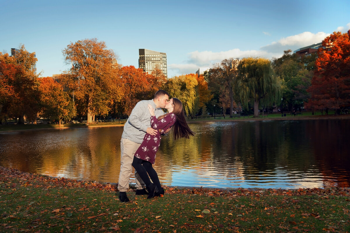
[[[126,192],[129,188],[129,180],[132,173],[132,161],[134,160],[134,154],[141,144],[134,143],[126,138],[120,140],[120,173],[118,190],[119,192]],[[140,178],[139,174],[135,171],[136,188],[143,189],[145,183]]]

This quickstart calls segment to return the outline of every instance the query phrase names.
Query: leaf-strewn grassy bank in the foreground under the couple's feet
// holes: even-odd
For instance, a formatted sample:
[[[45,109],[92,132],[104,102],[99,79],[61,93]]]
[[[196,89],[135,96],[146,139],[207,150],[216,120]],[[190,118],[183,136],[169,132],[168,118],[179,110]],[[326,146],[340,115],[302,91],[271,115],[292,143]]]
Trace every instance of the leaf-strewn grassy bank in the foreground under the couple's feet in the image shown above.
[[[146,199],[111,184],[0,167],[1,232],[349,232],[350,190],[166,187]]]

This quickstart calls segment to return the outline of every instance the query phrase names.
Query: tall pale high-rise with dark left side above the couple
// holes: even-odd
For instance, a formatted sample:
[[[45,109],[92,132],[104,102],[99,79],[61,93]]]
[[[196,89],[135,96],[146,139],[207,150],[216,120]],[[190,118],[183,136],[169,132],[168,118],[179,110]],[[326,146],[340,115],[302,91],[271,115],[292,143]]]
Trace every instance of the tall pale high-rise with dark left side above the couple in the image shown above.
[[[139,49],[139,68],[149,74],[158,68],[168,78],[167,54],[148,49]]]

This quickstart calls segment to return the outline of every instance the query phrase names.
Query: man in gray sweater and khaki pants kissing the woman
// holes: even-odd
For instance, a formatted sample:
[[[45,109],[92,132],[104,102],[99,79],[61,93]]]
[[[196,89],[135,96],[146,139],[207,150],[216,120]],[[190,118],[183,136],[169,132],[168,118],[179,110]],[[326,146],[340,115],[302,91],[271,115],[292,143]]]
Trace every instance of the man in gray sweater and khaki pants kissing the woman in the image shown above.
[[[165,90],[158,90],[152,100],[141,100],[138,102],[124,125],[124,131],[120,140],[120,173],[119,173],[119,200],[129,202],[126,190],[129,188],[129,179],[132,173],[132,162],[136,150],[142,143],[146,132],[155,135],[156,130],[151,128],[151,114],[148,111],[148,104],[155,109],[155,116],[164,114],[161,108],[169,101],[169,94]],[[135,171],[136,195],[148,195],[145,184]]]

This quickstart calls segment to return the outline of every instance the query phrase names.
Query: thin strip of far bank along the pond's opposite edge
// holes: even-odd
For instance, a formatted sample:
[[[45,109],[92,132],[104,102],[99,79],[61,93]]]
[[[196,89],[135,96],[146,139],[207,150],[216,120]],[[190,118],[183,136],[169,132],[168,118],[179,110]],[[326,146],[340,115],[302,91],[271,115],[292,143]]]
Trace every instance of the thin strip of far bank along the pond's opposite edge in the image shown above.
[[[228,119],[204,119],[204,118],[198,118],[198,119],[188,119],[187,123],[201,123],[201,122],[230,122],[230,121],[298,121],[298,120],[343,120],[343,119],[349,119],[350,115],[346,116],[308,116],[308,117],[302,117],[302,116],[286,116],[286,117],[273,117],[268,118],[268,115],[259,117],[259,118],[247,118],[247,117],[235,117],[235,118],[229,118]],[[12,133],[12,132],[25,132],[25,131],[38,131],[38,130],[64,130],[64,129],[77,129],[77,128],[103,128],[103,127],[120,127],[124,124],[118,124],[118,125],[98,125],[92,124],[92,125],[82,125],[82,126],[64,126],[64,127],[50,127],[50,128],[40,128],[40,129],[20,129],[20,130],[4,130],[0,131],[0,133]]]

